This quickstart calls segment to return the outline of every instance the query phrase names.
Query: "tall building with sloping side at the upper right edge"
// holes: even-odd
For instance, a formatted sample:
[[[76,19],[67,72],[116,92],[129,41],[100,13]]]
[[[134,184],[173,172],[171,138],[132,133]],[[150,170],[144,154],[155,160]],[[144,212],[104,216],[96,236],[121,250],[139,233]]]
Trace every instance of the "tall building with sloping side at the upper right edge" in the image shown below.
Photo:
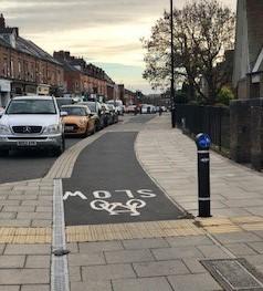
[[[233,87],[239,98],[263,97],[263,1],[238,0]]]

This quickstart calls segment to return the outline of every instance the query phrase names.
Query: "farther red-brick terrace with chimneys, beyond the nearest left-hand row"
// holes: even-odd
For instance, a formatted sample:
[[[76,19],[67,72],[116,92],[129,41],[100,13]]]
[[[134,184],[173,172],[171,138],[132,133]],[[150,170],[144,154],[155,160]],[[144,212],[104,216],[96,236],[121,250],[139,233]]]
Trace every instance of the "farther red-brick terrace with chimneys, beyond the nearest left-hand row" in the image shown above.
[[[67,51],[54,52],[53,56],[64,66],[66,93],[73,96],[96,94],[106,100],[117,97],[116,84],[101,67]]]

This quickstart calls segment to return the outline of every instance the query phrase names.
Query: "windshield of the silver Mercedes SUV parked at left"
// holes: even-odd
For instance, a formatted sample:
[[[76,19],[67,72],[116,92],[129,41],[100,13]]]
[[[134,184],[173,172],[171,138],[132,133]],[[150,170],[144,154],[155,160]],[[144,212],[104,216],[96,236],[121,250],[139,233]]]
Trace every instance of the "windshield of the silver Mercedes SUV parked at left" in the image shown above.
[[[12,100],[7,114],[56,114],[53,100]]]

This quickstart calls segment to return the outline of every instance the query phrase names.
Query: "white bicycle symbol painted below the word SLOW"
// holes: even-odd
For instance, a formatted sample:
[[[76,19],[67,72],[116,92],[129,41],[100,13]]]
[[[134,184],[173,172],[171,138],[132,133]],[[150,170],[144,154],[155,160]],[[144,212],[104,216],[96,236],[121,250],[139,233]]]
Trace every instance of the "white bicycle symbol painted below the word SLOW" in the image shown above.
[[[122,202],[108,202],[105,200],[93,200],[91,202],[91,207],[95,210],[105,210],[111,216],[116,216],[119,214],[130,214],[130,216],[139,216],[140,212],[137,211],[139,208],[144,208],[146,202],[140,199],[130,199],[126,202],[126,205]]]

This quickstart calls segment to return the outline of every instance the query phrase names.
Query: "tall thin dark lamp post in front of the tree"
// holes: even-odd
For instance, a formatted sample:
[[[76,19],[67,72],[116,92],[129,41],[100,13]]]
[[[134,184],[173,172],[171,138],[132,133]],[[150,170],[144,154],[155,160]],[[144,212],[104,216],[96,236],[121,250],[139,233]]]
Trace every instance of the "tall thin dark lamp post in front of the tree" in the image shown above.
[[[173,3],[170,0],[170,34],[171,34],[171,87],[170,87],[170,102],[171,102],[171,126],[176,127],[176,92],[175,92],[175,52],[173,52]]]

